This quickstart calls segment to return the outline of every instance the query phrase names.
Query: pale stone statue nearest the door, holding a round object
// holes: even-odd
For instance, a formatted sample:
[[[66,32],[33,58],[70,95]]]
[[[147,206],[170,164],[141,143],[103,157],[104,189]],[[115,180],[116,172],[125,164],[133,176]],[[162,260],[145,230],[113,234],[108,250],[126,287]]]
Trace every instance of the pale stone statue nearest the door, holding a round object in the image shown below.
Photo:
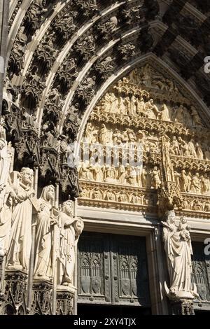
[[[59,257],[57,259],[57,283],[62,286],[73,284],[73,269],[75,265],[75,246],[83,231],[83,220],[72,215],[72,201],[62,204],[59,214],[61,225]]]

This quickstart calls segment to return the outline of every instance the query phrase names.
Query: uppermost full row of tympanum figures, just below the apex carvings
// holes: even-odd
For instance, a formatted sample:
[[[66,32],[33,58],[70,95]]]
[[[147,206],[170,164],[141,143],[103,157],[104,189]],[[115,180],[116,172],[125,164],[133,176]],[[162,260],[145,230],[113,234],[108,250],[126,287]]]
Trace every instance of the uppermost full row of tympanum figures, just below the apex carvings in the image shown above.
[[[191,106],[189,110],[182,104],[174,108],[167,106],[167,104],[157,105],[152,98],[146,102],[144,97],[136,97],[134,94],[130,97],[118,97],[113,92],[107,92],[95,111],[174,121],[175,123],[183,123],[187,127],[204,126],[195,106]]]

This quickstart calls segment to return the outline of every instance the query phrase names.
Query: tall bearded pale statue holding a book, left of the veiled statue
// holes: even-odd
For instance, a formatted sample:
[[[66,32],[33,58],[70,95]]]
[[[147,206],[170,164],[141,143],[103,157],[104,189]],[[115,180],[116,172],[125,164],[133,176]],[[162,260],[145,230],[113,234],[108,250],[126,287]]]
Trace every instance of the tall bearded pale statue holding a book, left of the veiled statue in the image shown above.
[[[15,192],[11,217],[11,230],[6,267],[28,270],[31,252],[32,188],[34,172],[22,168],[11,173],[12,188]]]

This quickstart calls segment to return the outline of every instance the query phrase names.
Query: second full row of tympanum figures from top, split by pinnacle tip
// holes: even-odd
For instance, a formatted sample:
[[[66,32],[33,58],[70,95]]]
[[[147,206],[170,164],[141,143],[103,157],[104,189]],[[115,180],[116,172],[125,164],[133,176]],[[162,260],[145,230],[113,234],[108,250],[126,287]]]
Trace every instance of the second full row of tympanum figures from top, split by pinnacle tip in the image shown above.
[[[127,128],[120,131],[118,128],[112,130],[102,123],[101,127],[96,127],[92,123],[87,123],[83,142],[85,144],[102,144],[102,146],[115,146],[116,148],[132,148],[142,147],[144,152],[160,152],[158,137],[153,133],[143,130],[134,130]],[[200,144],[195,139],[185,141],[182,137],[173,136],[167,138],[170,144],[169,153],[171,155],[182,156],[186,158],[195,158],[199,160],[210,160],[210,146],[207,143]]]

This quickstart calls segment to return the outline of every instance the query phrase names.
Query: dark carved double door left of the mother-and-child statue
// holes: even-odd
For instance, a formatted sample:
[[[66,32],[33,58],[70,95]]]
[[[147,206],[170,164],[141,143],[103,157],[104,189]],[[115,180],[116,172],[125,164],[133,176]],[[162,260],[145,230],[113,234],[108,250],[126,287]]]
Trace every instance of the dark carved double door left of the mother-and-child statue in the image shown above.
[[[84,232],[78,243],[78,302],[150,307],[146,239]]]

